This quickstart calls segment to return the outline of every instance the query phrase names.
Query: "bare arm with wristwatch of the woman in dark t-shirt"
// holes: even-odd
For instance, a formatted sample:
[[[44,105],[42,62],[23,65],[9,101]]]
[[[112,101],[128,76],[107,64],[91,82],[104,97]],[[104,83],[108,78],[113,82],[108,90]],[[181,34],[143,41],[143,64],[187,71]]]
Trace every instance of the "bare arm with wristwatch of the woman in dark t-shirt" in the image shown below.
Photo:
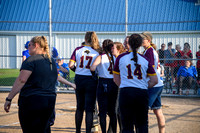
[[[19,93],[19,91],[22,89],[22,87],[26,83],[27,79],[30,77],[31,73],[32,72],[28,71],[28,70],[21,70],[20,71],[20,74],[17,77],[17,79],[15,80],[15,83],[13,84],[13,87],[12,87],[8,97],[7,97],[8,99],[13,99],[15,97],[15,95],[17,93]],[[6,112],[9,112],[10,106],[11,106],[11,102],[6,101],[5,104],[4,104],[4,110]]]

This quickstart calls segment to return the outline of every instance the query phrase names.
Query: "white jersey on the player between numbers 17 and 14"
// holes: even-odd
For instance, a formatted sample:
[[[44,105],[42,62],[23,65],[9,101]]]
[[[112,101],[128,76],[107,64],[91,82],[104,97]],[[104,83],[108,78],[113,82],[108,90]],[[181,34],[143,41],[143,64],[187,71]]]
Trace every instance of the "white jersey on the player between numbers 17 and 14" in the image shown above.
[[[113,56],[115,62],[115,57]],[[101,55],[101,63],[97,66],[98,76],[101,78],[113,78],[113,64],[109,62],[106,54]]]

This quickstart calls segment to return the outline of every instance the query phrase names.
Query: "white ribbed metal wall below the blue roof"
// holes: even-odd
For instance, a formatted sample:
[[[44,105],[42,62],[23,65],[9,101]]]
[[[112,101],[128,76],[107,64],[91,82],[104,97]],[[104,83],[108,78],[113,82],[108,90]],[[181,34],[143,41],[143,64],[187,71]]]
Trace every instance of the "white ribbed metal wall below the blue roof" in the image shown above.
[[[24,44],[26,41],[30,40],[34,36],[48,36],[45,33],[27,33],[27,34],[13,34],[9,35],[0,35],[0,55],[15,55],[22,56],[22,51],[25,50]],[[85,33],[57,33],[53,34],[52,46],[55,46],[58,49],[59,56],[64,58],[70,58],[74,49],[78,46],[81,46],[81,43],[84,41]],[[102,45],[103,40],[111,39],[114,42],[124,41],[125,36],[121,33],[97,33],[99,38],[100,45]],[[49,38],[47,37],[47,40]],[[191,51],[193,57],[195,57],[196,51],[198,51],[198,46],[200,45],[200,34],[199,33],[153,33],[153,43],[157,45],[157,49],[161,47],[162,43],[167,45],[168,42],[173,43],[173,48],[176,44],[180,44],[183,48],[185,42],[188,42],[191,45]],[[167,48],[167,47],[166,47]],[[143,51],[143,48],[140,48],[140,52]],[[20,68],[22,63],[21,57],[0,57],[0,68]],[[69,62],[69,60],[65,60]]]

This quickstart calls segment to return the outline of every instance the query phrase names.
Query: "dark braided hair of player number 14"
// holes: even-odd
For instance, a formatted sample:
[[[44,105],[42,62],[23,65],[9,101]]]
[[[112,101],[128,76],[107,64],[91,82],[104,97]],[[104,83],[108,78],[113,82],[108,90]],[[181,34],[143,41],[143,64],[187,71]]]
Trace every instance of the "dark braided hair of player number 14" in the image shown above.
[[[138,66],[137,50],[142,45],[143,38],[139,34],[132,34],[129,38],[129,45],[133,50],[133,61],[136,67]]]

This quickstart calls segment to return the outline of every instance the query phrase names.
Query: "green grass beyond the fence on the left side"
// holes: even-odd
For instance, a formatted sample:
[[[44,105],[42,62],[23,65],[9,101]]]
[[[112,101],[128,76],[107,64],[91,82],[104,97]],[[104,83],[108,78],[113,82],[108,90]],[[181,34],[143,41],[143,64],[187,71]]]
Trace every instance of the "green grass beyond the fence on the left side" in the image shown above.
[[[19,69],[0,69],[0,86],[12,86],[19,76]],[[70,82],[74,82],[75,73],[70,70]]]

